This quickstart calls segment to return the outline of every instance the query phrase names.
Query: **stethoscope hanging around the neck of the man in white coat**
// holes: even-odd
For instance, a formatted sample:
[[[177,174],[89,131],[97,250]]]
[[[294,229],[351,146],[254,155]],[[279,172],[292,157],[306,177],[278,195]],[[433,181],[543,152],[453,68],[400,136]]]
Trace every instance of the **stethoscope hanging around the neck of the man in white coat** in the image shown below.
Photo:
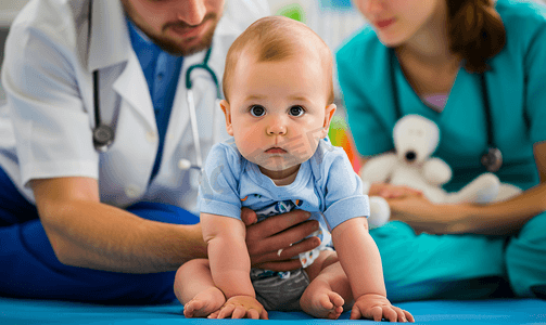
[[[92,12],[92,0],[89,1],[89,36],[91,35],[91,12]],[[189,170],[189,169],[198,169],[199,171],[202,171],[203,169],[203,158],[201,154],[201,143],[199,140],[199,127],[198,127],[198,118],[195,114],[195,102],[193,98],[193,90],[192,90],[192,80],[191,80],[191,73],[194,72],[195,69],[203,69],[205,70],[211,78],[214,81],[214,86],[216,87],[216,101],[215,101],[215,107],[218,107],[219,99],[221,96],[220,94],[220,87],[218,82],[218,78],[216,77],[216,74],[213,72],[213,69],[208,66],[208,60],[211,58],[211,53],[212,53],[212,47],[208,48],[208,50],[205,53],[205,57],[203,58],[203,62],[201,64],[194,64],[188,67],[186,70],[186,101],[188,103],[188,108],[190,110],[190,123],[191,123],[191,130],[192,130],[192,136],[193,136],[193,145],[195,148],[195,165],[191,164],[190,160],[188,159],[180,159],[178,161],[178,168],[181,170]],[[113,129],[104,123],[101,120],[101,113],[100,113],[100,101],[99,101],[99,70],[94,70],[92,75],[93,79],[93,108],[94,108],[94,128],[92,130],[92,135],[93,135],[93,145],[94,148],[98,152],[104,153],[109,150],[109,147],[112,145],[114,142],[114,131]],[[215,116],[215,114],[214,114]],[[213,117],[214,120],[214,117]],[[215,132],[216,128],[213,127],[213,139],[215,138]]]

